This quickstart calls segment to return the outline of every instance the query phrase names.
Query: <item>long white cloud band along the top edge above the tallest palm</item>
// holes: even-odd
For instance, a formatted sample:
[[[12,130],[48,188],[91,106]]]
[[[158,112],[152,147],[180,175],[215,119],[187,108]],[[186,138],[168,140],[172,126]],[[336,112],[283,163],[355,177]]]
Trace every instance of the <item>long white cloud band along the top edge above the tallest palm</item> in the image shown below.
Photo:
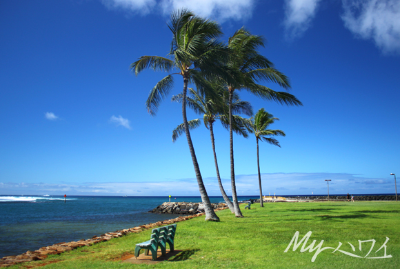
[[[110,9],[148,14],[160,12],[170,15],[177,8],[188,8],[201,17],[217,19],[220,23],[227,19],[241,20],[251,17],[255,0],[101,0]]]

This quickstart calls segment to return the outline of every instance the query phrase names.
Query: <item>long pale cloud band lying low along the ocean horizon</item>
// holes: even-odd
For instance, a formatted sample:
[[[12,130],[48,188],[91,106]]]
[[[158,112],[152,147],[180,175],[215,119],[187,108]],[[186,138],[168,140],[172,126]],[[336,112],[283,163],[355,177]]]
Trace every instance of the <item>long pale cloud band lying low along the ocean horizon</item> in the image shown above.
[[[394,193],[392,179],[371,179],[346,173],[274,173],[262,174],[264,195],[331,195]],[[352,180],[357,179],[357,180]],[[228,195],[232,195],[230,179],[222,179]],[[220,196],[217,179],[205,178],[208,195]],[[258,195],[258,175],[237,175],[238,195]],[[1,183],[2,195],[144,195],[199,196],[196,179],[138,182],[80,183]]]

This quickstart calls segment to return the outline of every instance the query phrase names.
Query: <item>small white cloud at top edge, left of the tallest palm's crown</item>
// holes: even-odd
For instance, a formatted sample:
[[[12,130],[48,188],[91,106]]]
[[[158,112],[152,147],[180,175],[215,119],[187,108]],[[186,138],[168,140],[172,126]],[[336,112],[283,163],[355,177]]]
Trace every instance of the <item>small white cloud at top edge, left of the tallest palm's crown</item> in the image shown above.
[[[156,0],[101,0],[110,9],[129,10],[134,13],[148,14],[154,8]]]

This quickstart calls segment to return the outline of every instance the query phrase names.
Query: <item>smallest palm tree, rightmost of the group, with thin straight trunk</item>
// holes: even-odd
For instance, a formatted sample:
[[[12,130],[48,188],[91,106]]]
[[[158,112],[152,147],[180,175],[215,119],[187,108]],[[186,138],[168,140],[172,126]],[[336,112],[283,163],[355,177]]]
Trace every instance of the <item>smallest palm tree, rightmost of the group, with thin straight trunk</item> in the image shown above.
[[[272,135],[281,135],[282,137],[286,136],[282,130],[267,129],[268,126],[270,126],[270,124],[274,123],[274,121],[279,121],[279,119],[274,118],[274,116],[272,116],[272,114],[266,112],[266,110],[261,108],[259,111],[257,111],[254,118],[252,117],[250,119],[250,121],[248,121],[248,124],[246,125],[248,132],[254,134],[256,136],[256,141],[257,141],[257,168],[259,171],[259,189],[260,189],[260,206],[261,206],[261,208],[264,205],[263,205],[263,190],[261,188],[259,140],[266,141],[272,145],[279,146],[279,148],[280,148],[281,145],[279,145],[279,141],[277,141],[277,139],[274,139],[272,137],[267,137],[267,136],[272,136]]]

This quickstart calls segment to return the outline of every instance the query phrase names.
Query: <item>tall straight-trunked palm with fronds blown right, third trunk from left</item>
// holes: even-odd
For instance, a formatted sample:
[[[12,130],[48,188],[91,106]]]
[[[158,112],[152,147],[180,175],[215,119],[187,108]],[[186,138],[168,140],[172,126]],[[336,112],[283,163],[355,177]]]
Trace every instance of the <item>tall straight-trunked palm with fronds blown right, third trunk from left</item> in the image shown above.
[[[261,81],[277,83],[282,88],[290,89],[290,82],[285,74],[279,72],[272,62],[259,54],[257,48],[264,46],[261,36],[256,36],[241,28],[234,32],[228,40],[230,59],[228,68],[235,81],[227,82],[229,91],[229,120],[232,123],[232,96],[235,90],[247,90],[257,97],[277,101],[290,106],[302,106],[294,95],[288,92],[276,92],[259,83]],[[236,183],[234,179],[233,136],[232,124],[230,133],[230,180],[232,185],[232,198],[236,217],[243,217],[237,201]]]

